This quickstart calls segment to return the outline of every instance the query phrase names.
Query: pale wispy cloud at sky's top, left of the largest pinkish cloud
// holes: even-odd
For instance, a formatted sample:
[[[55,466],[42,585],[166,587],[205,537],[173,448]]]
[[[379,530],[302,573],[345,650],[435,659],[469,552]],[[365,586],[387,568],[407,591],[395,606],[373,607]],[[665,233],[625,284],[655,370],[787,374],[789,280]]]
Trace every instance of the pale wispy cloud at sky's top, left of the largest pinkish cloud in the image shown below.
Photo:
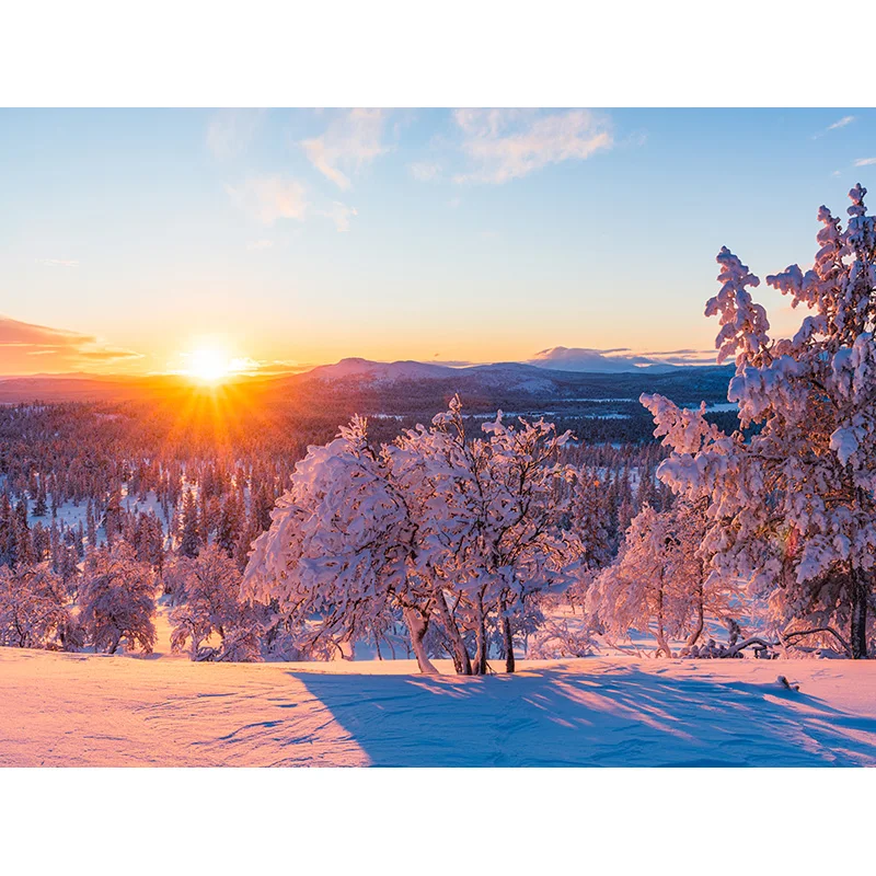
[[[383,110],[349,110],[338,116],[320,137],[301,147],[311,164],[338,188],[347,189],[350,174],[389,151],[383,142],[387,113]]]

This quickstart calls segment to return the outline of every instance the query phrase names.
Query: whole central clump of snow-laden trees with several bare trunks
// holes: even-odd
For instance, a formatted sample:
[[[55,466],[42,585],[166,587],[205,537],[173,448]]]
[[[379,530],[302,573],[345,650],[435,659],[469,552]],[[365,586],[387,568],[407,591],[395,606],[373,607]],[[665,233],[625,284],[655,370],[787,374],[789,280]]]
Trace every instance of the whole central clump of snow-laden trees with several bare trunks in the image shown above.
[[[309,647],[379,638],[402,619],[426,672],[430,625],[462,673],[487,670],[495,626],[512,670],[515,626],[580,565],[557,489],[574,474],[558,461],[568,435],[550,424],[511,427],[499,413],[483,429],[466,437],[454,399],[391,445],[371,446],[355,417],[309,448],[255,542],[243,592],[275,600]]]

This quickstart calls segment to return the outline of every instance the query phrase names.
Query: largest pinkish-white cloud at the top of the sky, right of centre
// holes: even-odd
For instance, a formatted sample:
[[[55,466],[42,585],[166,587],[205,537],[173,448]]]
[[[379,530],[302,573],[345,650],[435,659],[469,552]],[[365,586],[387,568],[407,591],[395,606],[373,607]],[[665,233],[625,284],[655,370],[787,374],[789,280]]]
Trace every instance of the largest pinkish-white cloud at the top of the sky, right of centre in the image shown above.
[[[473,170],[454,182],[506,183],[548,164],[589,158],[613,145],[608,118],[589,110],[457,110],[462,151]]]

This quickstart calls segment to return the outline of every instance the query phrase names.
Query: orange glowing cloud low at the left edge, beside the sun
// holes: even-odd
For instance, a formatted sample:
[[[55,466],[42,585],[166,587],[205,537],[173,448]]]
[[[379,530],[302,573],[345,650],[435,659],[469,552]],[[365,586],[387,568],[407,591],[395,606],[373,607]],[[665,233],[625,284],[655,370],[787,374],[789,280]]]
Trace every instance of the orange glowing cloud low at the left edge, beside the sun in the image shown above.
[[[101,343],[94,335],[0,316],[0,373],[70,371],[129,364],[141,354]]]

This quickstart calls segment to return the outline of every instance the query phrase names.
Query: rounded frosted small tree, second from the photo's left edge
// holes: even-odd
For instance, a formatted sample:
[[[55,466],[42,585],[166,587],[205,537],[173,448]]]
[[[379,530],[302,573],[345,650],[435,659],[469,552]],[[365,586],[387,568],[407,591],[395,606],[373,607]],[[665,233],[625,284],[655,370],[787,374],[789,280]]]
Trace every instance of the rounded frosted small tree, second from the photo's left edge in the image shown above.
[[[119,541],[95,551],[79,587],[79,624],[97,652],[115,654],[125,643],[151,654],[155,643],[155,578],[138,562],[134,549]]]

